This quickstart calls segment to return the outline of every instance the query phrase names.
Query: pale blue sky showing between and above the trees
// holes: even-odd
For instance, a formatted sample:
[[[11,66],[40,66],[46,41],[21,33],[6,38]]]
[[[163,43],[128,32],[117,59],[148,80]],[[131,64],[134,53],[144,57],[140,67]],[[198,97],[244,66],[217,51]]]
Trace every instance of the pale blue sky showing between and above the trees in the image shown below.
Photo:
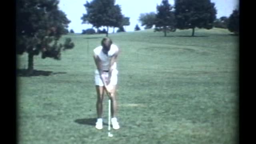
[[[92,0],[87,0],[88,2]],[[116,0],[116,4],[121,5],[122,14],[130,17],[130,26],[126,26],[126,31],[134,31],[136,24],[140,26],[138,18],[141,13],[156,12],[156,5],[162,0]],[[239,0],[211,0],[215,3],[217,9],[217,18],[221,16],[230,16],[233,10],[239,6]],[[86,14],[84,4],[86,0],[60,0],[59,8],[71,20],[68,29],[73,29],[76,33],[81,33],[83,29],[91,28],[90,24],[82,24],[80,18]],[[169,3],[174,5],[174,0],[169,0]],[[140,26],[141,29],[144,29]],[[118,28],[115,28],[115,31]],[[109,32],[113,29],[110,28]]]

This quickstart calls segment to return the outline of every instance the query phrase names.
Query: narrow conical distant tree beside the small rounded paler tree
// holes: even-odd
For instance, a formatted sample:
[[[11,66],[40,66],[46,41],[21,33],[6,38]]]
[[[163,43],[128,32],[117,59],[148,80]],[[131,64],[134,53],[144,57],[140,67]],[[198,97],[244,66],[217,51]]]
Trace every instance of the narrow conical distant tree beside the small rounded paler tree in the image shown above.
[[[171,11],[172,8],[168,0],[162,0],[162,4],[156,6],[155,31],[164,32],[164,36],[166,36],[166,32],[174,32],[176,30],[175,15]]]

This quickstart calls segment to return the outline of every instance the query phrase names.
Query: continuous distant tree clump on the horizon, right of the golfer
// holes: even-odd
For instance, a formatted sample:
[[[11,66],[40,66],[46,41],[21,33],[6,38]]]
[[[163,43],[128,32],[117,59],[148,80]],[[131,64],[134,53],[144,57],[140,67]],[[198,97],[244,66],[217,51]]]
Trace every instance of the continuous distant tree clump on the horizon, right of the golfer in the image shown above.
[[[139,21],[144,29],[155,26],[154,31],[175,32],[176,29],[192,29],[194,36],[195,28],[228,28],[230,32],[239,33],[239,10],[234,10],[229,18],[222,16],[216,18],[215,4],[210,0],[174,0],[175,5],[169,4],[168,0],[162,0],[156,6],[156,13],[143,13]]]

